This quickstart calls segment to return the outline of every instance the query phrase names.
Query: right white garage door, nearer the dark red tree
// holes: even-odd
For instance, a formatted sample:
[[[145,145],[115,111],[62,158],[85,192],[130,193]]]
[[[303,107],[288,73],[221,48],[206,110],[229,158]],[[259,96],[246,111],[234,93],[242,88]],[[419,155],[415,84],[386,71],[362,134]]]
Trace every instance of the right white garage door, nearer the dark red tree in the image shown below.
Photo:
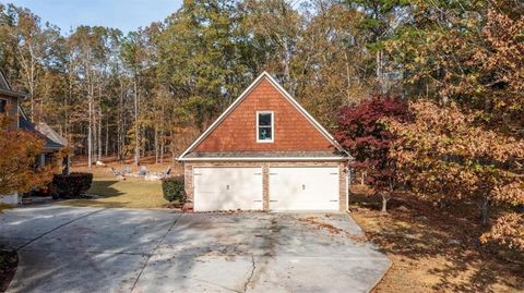
[[[272,210],[338,210],[338,168],[271,168]]]

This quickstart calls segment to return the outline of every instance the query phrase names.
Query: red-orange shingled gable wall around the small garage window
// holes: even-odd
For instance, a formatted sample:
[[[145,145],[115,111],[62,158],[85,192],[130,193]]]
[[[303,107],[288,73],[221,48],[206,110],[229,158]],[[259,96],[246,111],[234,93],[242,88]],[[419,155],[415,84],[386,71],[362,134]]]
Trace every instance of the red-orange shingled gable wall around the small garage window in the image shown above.
[[[257,111],[274,112],[274,143],[257,143]],[[325,138],[266,78],[193,150],[330,151]]]

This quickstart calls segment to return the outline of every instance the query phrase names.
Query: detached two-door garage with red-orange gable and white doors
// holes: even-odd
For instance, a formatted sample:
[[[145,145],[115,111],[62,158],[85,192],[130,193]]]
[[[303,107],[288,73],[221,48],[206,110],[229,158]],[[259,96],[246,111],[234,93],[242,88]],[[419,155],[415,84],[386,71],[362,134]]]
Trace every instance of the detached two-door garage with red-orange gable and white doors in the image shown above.
[[[194,211],[346,210],[350,159],[265,72],[179,157]]]

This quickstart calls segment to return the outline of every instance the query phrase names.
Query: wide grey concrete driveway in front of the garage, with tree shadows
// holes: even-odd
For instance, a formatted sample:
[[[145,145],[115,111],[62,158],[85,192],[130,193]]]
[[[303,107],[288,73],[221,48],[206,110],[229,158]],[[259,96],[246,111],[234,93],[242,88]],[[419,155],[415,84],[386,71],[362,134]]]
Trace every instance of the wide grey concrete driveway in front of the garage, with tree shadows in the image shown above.
[[[390,260],[361,233],[346,213],[0,215],[0,243],[20,256],[8,292],[367,292]]]

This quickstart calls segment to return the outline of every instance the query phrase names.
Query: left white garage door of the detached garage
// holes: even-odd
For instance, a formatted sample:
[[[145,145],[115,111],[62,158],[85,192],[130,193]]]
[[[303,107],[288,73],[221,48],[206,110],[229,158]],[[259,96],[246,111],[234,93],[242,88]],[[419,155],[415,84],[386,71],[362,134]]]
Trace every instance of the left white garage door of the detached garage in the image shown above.
[[[194,168],[195,211],[262,209],[262,168]]]

